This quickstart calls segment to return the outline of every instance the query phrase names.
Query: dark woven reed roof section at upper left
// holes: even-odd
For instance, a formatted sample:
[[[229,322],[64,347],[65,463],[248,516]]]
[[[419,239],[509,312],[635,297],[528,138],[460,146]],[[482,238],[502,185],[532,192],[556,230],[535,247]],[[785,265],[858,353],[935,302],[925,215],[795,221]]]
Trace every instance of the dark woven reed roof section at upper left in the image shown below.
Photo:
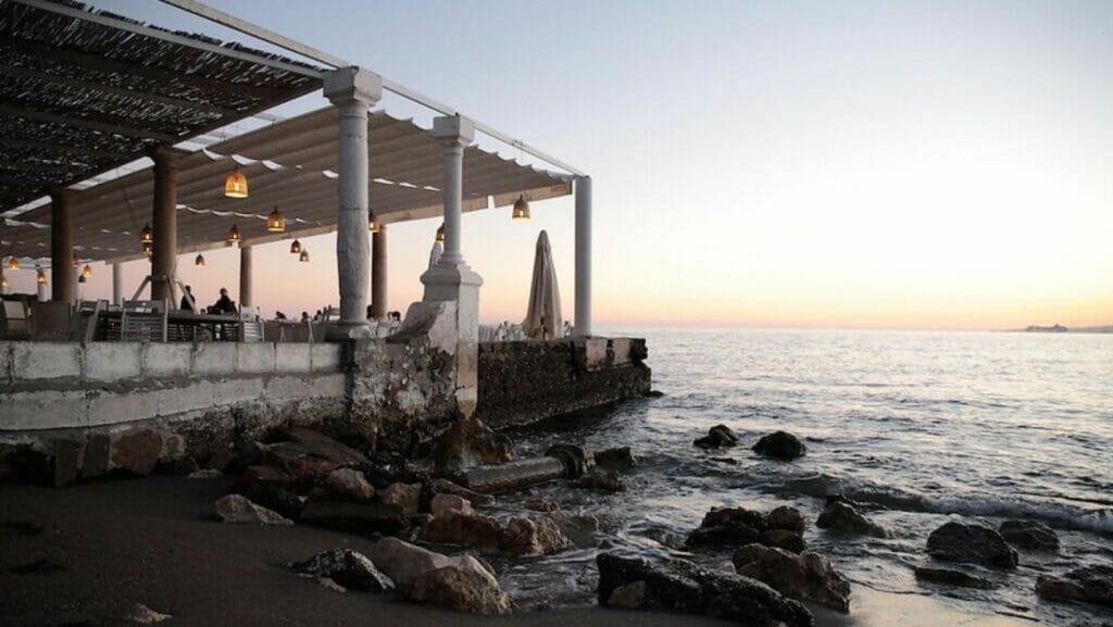
[[[321,71],[68,0],[0,0],[0,216],[319,89]]]

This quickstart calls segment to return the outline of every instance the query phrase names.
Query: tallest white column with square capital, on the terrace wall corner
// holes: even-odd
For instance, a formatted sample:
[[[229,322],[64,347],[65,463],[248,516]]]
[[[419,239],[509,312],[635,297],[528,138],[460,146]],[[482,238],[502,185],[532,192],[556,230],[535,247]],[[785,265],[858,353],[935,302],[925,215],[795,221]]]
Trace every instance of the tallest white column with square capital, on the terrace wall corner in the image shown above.
[[[324,76],[325,97],[339,109],[337,167],[336,266],[339,275],[341,320],[333,339],[363,337],[367,327],[367,109],[383,95],[378,75],[355,67]]]

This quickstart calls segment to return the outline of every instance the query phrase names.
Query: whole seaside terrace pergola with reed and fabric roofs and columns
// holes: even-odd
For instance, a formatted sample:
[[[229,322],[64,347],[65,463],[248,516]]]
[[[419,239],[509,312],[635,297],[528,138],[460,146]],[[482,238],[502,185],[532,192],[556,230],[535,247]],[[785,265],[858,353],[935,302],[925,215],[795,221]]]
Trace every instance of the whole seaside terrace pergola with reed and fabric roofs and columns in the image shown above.
[[[383,225],[444,216],[445,254],[423,281],[426,300],[431,291],[447,300],[459,291],[444,285],[469,282],[461,212],[574,190],[577,333],[590,333],[590,178],[373,72],[191,0],[164,1],[327,67],[72,2],[0,0],[0,249],[6,258],[49,256],[53,300],[73,300],[73,274],[57,268],[69,267],[75,253],[114,264],[142,258],[138,231],[147,224],[155,298],[173,294],[178,255],[225,246],[236,225],[243,304],[250,304],[253,245],[335,231],[341,323],[355,327],[364,321],[368,275],[373,303],[385,303],[386,229],[370,236],[370,214]],[[425,129],[370,112],[384,89],[445,115]],[[332,106],[201,149],[181,147],[316,90]],[[484,151],[473,145],[476,130],[565,172]],[[90,185],[91,177],[145,156],[152,168]],[[224,195],[234,166],[250,182],[247,198]],[[283,233],[265,228],[275,209],[286,219]]]

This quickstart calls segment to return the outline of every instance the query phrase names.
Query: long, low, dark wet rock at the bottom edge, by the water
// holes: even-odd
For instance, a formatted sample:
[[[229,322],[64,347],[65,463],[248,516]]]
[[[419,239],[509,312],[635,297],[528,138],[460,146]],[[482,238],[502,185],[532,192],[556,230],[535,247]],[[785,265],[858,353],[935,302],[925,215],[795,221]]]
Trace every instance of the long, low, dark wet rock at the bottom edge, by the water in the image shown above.
[[[600,553],[599,602],[608,605],[614,590],[644,584],[641,595],[623,590],[619,599],[632,609],[662,609],[682,614],[708,614],[741,621],[754,627],[807,627],[811,613],[799,601],[788,599],[769,586],[749,577],[707,570],[684,560],[667,566],[644,559]]]

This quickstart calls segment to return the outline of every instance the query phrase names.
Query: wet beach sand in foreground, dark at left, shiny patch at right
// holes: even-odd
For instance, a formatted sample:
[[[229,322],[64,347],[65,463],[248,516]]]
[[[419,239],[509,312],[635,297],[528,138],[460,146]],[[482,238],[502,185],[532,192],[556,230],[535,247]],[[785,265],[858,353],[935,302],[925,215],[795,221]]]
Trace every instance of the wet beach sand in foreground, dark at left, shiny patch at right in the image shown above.
[[[121,625],[140,602],[174,618],[164,625],[213,626],[722,626],[664,613],[569,608],[482,617],[338,594],[282,564],[331,548],[366,552],[371,542],[309,527],[217,522],[211,503],[224,480],[152,477],[68,488],[0,484],[0,624],[6,627]],[[36,535],[8,525],[41,523]],[[39,560],[60,569],[13,574]],[[815,609],[815,608],[814,608]],[[851,616],[815,609],[818,625],[846,627],[1028,625],[958,613],[919,596],[855,587]]]

